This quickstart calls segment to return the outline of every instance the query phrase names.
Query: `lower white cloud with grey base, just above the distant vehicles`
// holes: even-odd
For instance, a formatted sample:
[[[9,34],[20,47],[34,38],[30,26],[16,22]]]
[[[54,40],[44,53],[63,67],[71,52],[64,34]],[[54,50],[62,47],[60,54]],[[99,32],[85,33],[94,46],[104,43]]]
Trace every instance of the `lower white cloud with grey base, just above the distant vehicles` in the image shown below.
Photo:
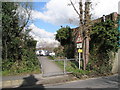
[[[47,32],[44,29],[36,27],[34,24],[29,26],[31,30],[30,35],[37,40],[38,47],[57,47],[59,42],[55,40],[54,33]]]

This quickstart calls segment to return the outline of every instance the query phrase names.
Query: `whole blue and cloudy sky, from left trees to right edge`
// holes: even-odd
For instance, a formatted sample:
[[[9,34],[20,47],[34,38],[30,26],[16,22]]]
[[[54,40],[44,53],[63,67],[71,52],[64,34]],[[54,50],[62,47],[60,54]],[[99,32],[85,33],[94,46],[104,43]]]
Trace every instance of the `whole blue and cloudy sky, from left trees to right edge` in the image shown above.
[[[78,10],[78,1],[72,0]],[[92,19],[118,12],[118,2],[120,0],[91,0]],[[85,2],[83,0],[83,2]],[[30,35],[38,41],[37,47],[56,47],[59,42],[55,40],[56,31],[61,26],[70,26],[75,28],[79,25],[78,15],[74,11],[69,0],[34,0],[31,13],[32,23],[29,28],[32,29]]]

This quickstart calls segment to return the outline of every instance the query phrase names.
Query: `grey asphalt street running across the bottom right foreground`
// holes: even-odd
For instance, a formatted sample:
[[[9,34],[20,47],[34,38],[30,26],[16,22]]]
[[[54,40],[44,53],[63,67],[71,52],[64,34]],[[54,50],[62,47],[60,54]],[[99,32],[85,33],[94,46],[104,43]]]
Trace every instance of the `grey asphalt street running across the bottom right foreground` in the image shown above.
[[[104,77],[97,77],[97,78],[90,78],[86,80],[76,80],[76,81],[70,81],[70,82],[63,82],[59,84],[40,84],[40,85],[34,85],[34,86],[27,86],[23,88],[42,88],[50,89],[50,88],[74,88],[74,89],[107,89],[110,90],[118,90],[119,89],[119,81],[118,81],[118,74],[112,75],[112,76],[104,76]],[[108,89],[108,90],[109,90]]]

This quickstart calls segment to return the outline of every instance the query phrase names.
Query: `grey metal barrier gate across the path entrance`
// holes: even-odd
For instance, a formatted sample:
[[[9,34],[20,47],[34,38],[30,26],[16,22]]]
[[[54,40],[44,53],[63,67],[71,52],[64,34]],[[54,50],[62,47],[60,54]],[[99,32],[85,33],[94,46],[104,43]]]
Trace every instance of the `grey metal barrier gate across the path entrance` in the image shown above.
[[[70,62],[75,62],[78,67],[78,59],[47,60],[44,59],[41,61],[42,76],[58,76],[72,73],[69,70]],[[45,64],[47,64],[47,66],[45,66]]]

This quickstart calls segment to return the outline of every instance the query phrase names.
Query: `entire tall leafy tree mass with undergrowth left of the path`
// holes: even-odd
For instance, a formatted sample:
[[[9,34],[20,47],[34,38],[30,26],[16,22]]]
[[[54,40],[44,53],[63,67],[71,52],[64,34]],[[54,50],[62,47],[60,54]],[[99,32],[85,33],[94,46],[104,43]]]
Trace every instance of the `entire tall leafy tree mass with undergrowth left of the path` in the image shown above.
[[[33,71],[39,65],[35,55],[36,41],[29,36],[31,30],[25,29],[30,13],[27,12],[27,19],[21,18],[17,13],[19,5],[23,3],[2,3],[2,69],[14,74]]]

